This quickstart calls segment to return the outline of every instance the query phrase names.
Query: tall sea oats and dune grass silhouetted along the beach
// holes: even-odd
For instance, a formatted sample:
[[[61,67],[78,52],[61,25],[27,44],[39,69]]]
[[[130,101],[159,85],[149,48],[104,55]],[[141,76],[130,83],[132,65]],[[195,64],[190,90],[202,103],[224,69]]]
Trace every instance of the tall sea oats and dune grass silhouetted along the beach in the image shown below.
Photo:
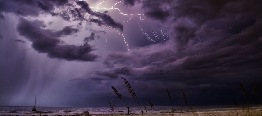
[[[125,78],[123,78],[123,77],[121,77],[121,78],[124,80],[125,85],[126,85],[126,87],[128,89],[128,92],[131,93],[131,96],[132,97],[136,97],[138,106],[139,106],[139,108],[141,110],[141,114],[143,115],[143,111],[141,109],[141,106],[139,104],[139,100],[137,98],[137,95],[136,95],[134,89],[132,88],[130,83]],[[254,84],[254,86],[252,88],[252,93],[250,94],[250,95],[252,95],[251,97],[253,97],[253,99],[255,100],[258,109],[252,108],[252,105],[251,105],[251,102],[250,102],[250,97],[248,97],[249,94],[246,92],[246,90],[242,86],[242,84],[238,83],[238,86],[240,87],[243,96],[245,96],[247,98],[248,102],[249,102],[249,104],[247,104],[247,107],[246,106],[242,106],[242,109],[241,109],[236,104],[236,110],[227,111],[226,113],[225,113],[225,111],[197,112],[197,105],[196,105],[195,108],[190,107],[190,110],[191,110],[191,113],[190,113],[190,111],[188,110],[188,103],[187,103],[186,95],[183,92],[183,100],[184,100],[184,103],[185,103],[185,106],[186,106],[186,109],[187,109],[187,115],[188,116],[201,116],[201,115],[203,115],[203,116],[262,116],[262,111],[261,111],[261,109],[260,109],[260,107],[259,107],[259,105],[258,105],[258,103],[256,101],[256,97],[255,97],[256,92],[258,90],[258,84]],[[116,88],[114,88],[113,86],[111,86],[111,88],[113,89],[114,93],[117,95],[117,99],[122,99],[123,100],[121,94],[116,90]],[[183,113],[185,112],[185,110],[183,110],[181,108],[181,113],[177,113],[177,112],[175,113],[176,110],[173,108],[173,102],[172,102],[172,98],[171,98],[171,95],[169,93],[169,90],[166,89],[166,92],[167,92],[167,95],[168,95],[169,100],[171,102],[172,110],[171,110],[171,113],[170,112],[160,113],[161,116],[162,115],[167,115],[167,113],[169,113],[169,115],[172,115],[172,116],[174,116],[174,114],[176,116],[177,115],[183,116]],[[123,102],[124,102],[125,106],[128,108],[128,106],[126,105],[124,100],[123,100]],[[149,105],[150,105],[151,109],[154,110],[155,115],[160,115],[160,114],[156,114],[155,107],[153,106],[152,102],[150,100],[148,100],[148,102],[149,102]],[[110,102],[109,102],[109,105],[110,105],[111,110],[114,111],[114,107],[113,107],[113,105]],[[149,115],[148,109],[146,107],[144,107],[144,109],[146,110],[146,114]]]

